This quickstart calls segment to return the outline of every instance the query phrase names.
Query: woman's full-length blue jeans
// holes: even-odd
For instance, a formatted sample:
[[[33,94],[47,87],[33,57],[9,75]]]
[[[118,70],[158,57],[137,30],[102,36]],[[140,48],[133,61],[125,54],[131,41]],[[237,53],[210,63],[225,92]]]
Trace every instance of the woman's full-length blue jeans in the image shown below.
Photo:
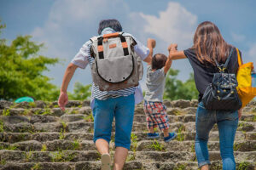
[[[219,148],[224,170],[236,170],[233,144],[238,126],[238,111],[209,111],[199,103],[195,116],[195,154],[198,166],[210,164],[207,142],[213,125],[218,124]]]

